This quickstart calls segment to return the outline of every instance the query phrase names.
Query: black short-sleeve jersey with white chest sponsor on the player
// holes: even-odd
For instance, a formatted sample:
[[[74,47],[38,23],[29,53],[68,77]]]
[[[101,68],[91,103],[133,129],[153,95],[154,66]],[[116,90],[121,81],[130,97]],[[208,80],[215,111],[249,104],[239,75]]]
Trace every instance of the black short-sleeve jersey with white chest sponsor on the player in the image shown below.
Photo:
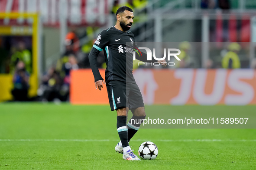
[[[100,32],[93,47],[104,51],[107,64],[106,83],[110,80],[135,82],[133,78],[134,46],[136,47],[136,43],[131,31],[123,32],[112,26]]]

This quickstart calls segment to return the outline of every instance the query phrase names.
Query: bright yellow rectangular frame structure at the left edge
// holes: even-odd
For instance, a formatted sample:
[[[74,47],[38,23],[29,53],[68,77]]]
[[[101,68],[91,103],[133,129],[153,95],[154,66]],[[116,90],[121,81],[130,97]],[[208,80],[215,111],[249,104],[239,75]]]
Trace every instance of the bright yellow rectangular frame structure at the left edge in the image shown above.
[[[0,25],[0,36],[32,36],[32,73],[29,78],[29,97],[36,96],[38,89],[38,14],[0,13],[0,19],[29,19],[31,25]],[[12,100],[13,75],[0,74],[0,101]]]

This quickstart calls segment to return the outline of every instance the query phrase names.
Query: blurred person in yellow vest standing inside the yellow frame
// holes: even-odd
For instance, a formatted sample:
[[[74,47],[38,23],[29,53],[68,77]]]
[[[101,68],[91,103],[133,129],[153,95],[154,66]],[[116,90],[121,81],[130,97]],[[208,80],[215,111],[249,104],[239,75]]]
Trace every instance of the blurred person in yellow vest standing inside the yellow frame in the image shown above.
[[[23,41],[18,43],[17,49],[15,47],[12,48],[13,55],[11,57],[11,72],[14,72],[16,64],[21,60],[25,63],[26,71],[32,72],[32,57],[29,50],[26,49],[26,44]]]

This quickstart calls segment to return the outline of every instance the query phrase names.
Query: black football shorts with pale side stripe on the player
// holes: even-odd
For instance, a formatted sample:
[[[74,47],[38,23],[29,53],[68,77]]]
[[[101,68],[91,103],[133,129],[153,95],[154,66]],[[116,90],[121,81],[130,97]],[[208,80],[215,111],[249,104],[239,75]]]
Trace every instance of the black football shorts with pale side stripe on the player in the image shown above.
[[[111,111],[120,107],[129,107],[129,109],[144,107],[142,94],[136,82],[111,80],[106,86]]]

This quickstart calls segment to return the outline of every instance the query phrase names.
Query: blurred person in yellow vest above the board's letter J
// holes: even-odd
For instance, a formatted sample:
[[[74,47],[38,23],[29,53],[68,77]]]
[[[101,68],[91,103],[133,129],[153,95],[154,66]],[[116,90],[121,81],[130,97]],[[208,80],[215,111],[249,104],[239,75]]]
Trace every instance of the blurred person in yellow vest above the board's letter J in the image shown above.
[[[179,49],[181,54],[178,57],[181,59],[180,62],[176,64],[179,68],[188,68],[191,66],[190,56],[188,55],[188,50],[190,50],[191,44],[188,41],[181,42],[179,44]]]

